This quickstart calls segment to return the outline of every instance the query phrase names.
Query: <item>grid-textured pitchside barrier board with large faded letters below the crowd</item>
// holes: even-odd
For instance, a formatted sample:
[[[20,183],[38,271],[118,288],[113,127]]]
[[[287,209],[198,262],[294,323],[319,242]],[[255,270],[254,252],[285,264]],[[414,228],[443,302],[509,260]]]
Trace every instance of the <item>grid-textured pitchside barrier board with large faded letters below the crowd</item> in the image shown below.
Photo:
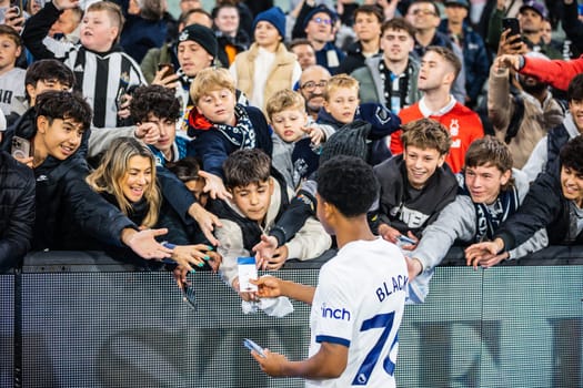
[[[405,308],[398,386],[583,386],[582,257],[552,247],[487,270],[438,268],[425,304]],[[318,268],[298,268],[315,263],[278,276],[315,284]],[[444,262],[456,263],[460,249]],[[217,275],[190,276],[198,312],[169,273],[99,253],[30,255],[21,273],[0,275],[0,387],[303,386],[265,377],[241,341],[306,357],[309,306],[244,315]]]

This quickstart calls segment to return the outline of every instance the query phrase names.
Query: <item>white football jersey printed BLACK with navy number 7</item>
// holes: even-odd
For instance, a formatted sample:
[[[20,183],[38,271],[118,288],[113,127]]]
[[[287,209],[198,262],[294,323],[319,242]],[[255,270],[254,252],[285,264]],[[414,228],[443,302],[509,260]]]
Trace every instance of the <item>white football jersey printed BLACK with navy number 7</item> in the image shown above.
[[[339,378],[308,380],[306,387],[395,387],[408,280],[403,254],[382,238],[349,243],[322,266],[310,314],[310,357],[320,343],[341,344],[349,347],[348,365]]]

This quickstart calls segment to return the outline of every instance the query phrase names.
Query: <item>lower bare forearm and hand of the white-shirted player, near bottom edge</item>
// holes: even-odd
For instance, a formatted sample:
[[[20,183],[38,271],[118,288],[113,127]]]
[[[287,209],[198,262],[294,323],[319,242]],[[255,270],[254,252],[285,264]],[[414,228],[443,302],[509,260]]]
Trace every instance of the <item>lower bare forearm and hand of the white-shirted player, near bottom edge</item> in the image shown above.
[[[251,353],[261,370],[272,377],[301,377],[311,380],[336,378],[346,368],[349,348],[344,345],[322,343],[320,350],[303,361],[290,361],[284,356],[264,350],[265,357]]]

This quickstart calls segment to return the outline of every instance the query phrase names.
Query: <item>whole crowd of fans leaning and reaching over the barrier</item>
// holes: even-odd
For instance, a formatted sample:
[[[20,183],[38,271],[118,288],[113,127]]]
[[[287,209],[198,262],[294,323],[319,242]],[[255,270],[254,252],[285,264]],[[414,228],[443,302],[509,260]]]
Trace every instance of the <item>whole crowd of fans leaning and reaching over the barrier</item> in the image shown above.
[[[489,267],[583,241],[576,1],[180,10],[0,1],[0,270],[100,249],[239,292],[240,256],[334,247],[315,182],[338,155],[374,166],[369,224],[405,253],[412,303],[453,244]]]

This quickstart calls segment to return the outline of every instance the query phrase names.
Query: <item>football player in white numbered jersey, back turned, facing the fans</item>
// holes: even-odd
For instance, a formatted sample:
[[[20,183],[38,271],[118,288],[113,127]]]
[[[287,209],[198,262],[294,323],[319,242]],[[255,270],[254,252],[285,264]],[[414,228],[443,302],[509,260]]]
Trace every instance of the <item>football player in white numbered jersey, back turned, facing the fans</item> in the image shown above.
[[[273,377],[302,377],[306,387],[395,387],[398,330],[408,267],[400,249],[372,234],[366,212],[379,193],[371,166],[336,156],[318,172],[318,217],[336,236],[339,252],[320,270],[318,286],[262,277],[259,297],[292,297],[312,305],[310,357],[290,361],[253,351]]]

